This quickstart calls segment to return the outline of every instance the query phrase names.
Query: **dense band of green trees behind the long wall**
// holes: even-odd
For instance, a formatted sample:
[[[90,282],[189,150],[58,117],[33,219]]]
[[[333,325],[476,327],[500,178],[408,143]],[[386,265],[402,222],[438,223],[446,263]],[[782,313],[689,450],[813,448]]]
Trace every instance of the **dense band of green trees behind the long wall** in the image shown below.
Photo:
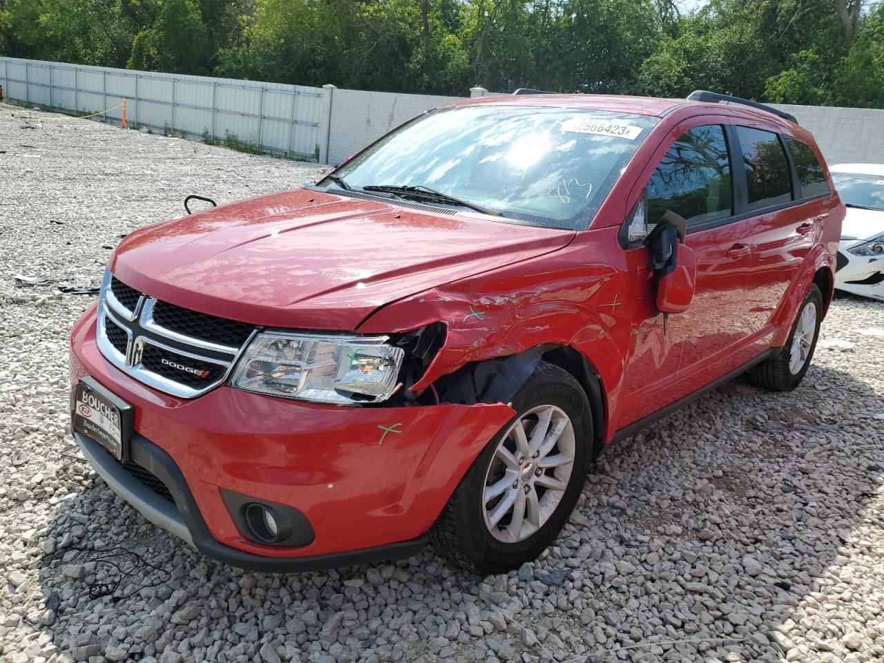
[[[0,0],[0,53],[304,85],[465,95],[884,107],[871,0]]]

